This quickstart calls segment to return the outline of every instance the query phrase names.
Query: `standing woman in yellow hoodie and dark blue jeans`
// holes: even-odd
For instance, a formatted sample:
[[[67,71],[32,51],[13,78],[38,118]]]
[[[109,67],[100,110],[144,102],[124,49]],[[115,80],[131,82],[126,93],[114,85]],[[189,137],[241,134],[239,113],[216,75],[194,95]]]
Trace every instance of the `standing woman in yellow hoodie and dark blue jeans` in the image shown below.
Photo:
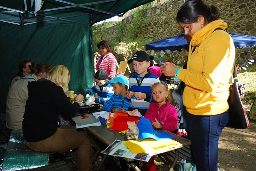
[[[229,118],[229,84],[235,64],[235,46],[222,29],[218,8],[201,0],[180,6],[176,20],[191,36],[187,69],[165,63],[162,71],[185,82],[183,103],[188,111],[188,138],[197,171],[217,171],[218,141]]]

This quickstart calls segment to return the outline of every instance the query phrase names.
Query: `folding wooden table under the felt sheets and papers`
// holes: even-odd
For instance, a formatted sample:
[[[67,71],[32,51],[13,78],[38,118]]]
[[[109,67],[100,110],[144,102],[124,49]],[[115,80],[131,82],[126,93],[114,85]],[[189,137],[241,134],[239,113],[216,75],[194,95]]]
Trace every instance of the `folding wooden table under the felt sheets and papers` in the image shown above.
[[[159,132],[162,132],[163,130],[158,130]],[[105,125],[101,125],[101,126],[91,126],[91,127],[86,127],[84,128],[84,134],[90,139],[90,141],[92,142],[93,146],[96,148],[97,152],[96,154],[93,156],[92,159],[94,159],[99,152],[103,151],[106,149],[106,147],[108,145],[110,145],[111,143],[113,143],[116,139],[123,141],[124,140],[124,136],[122,136],[121,134],[118,133],[119,131],[115,131],[115,130],[111,130],[109,128],[107,128]],[[171,150],[175,150],[178,148],[181,148],[183,146],[186,145],[190,145],[190,141],[188,139],[185,139],[183,137],[180,137],[176,134],[173,134],[171,132],[166,131],[168,134],[172,135],[175,137],[175,141],[179,142],[180,144],[182,144],[181,146],[177,146],[174,147],[172,149],[166,149],[167,151],[171,151]],[[178,159],[179,153],[177,151],[177,159]],[[103,164],[104,160],[106,159],[107,155],[105,155],[102,159],[102,162],[100,163],[98,170],[100,170],[101,165]],[[134,169],[134,170],[140,170],[134,163],[132,163],[132,161],[134,161],[133,159],[128,159],[128,158],[124,158],[128,164]],[[176,162],[177,162],[176,159]]]

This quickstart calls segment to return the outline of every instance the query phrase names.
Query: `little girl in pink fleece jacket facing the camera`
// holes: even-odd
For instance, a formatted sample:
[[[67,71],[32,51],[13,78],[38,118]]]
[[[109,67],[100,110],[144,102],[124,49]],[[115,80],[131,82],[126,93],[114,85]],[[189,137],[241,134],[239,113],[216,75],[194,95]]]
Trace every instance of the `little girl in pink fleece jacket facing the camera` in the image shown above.
[[[144,118],[149,119],[154,128],[174,131],[178,124],[177,110],[170,104],[171,97],[167,84],[156,82],[151,87],[151,93],[154,102],[149,105]],[[156,171],[154,156],[148,162],[144,162],[142,171],[146,170]]]

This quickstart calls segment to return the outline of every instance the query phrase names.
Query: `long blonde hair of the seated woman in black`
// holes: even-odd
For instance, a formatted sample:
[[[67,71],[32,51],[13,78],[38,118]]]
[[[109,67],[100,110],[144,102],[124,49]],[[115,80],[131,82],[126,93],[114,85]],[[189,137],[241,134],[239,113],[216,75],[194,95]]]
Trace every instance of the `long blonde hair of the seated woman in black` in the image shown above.
[[[54,66],[45,76],[47,80],[54,82],[56,85],[62,87],[64,92],[68,91],[68,82],[70,76],[68,68],[64,65]]]

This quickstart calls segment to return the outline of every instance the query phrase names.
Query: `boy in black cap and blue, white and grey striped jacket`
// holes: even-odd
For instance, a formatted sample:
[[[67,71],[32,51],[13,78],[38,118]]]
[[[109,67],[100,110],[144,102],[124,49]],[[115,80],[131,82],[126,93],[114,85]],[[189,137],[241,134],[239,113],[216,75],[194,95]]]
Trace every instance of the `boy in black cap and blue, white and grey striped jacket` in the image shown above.
[[[145,51],[137,51],[128,64],[132,63],[133,72],[129,78],[129,91],[126,94],[127,99],[131,99],[129,111],[138,109],[142,116],[148,110],[149,104],[153,101],[151,86],[155,82],[160,82],[156,75],[148,71],[150,66],[149,55]]]

